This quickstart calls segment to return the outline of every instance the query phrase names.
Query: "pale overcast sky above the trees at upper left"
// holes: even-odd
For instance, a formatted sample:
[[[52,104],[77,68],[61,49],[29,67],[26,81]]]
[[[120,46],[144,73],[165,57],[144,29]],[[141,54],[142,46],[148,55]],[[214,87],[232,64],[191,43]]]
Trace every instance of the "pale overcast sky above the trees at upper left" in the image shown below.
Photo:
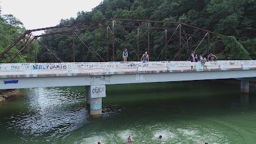
[[[2,15],[12,14],[26,29],[36,29],[56,26],[61,19],[76,17],[77,12],[90,12],[101,1],[103,0],[0,0],[0,6]]]

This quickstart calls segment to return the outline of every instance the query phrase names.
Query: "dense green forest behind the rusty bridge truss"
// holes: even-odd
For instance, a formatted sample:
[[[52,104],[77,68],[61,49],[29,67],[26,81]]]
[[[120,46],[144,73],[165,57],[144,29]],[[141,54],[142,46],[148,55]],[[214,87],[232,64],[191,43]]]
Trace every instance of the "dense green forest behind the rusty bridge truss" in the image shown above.
[[[143,19],[159,20],[167,22],[183,22],[191,26],[207,29],[224,36],[215,35],[211,37],[210,52],[214,52],[219,60],[256,60],[256,3],[254,0],[104,0],[91,12],[78,12],[77,17],[61,19],[58,26],[74,24],[79,22],[90,22],[100,19]],[[116,21],[120,26],[147,27],[147,22]],[[109,25],[108,28],[96,28]],[[172,28],[168,24],[150,23],[150,27]],[[97,22],[84,24],[72,28],[49,29],[46,34],[58,33],[60,31],[71,31],[70,33],[42,36],[40,38],[38,61],[39,62],[71,62],[73,61],[73,35],[72,29],[93,28],[84,31],[76,31],[75,56],[76,61],[121,61],[122,51],[129,51],[128,61],[136,61],[143,52],[148,49],[147,29],[115,28],[115,60],[113,60],[111,22]],[[112,31],[111,31],[112,30]],[[0,52],[10,45],[25,29],[22,23],[12,15],[0,18]],[[198,33],[198,30],[192,30]],[[172,35],[174,35],[172,37]],[[179,34],[169,32],[168,39],[172,40],[166,45],[168,51],[167,60],[179,60]],[[201,37],[204,37],[202,33]],[[109,38],[109,40],[108,40]],[[150,51],[151,61],[164,60],[164,31],[163,29],[150,29]],[[191,50],[197,54],[207,54],[207,42],[193,39],[193,45],[189,48],[188,37],[182,35],[181,60],[187,60]],[[213,43],[213,42],[216,42]],[[137,53],[139,43],[140,53]],[[34,46],[33,46],[34,45]],[[31,47],[35,48],[35,43]],[[20,45],[19,45],[20,46]],[[11,56],[17,49],[17,46]],[[12,62],[28,61],[28,50],[22,52],[19,58]],[[35,56],[35,51],[33,51]],[[109,60],[108,53],[109,52]],[[24,54],[24,55],[23,55]],[[35,61],[35,57],[33,59]]]

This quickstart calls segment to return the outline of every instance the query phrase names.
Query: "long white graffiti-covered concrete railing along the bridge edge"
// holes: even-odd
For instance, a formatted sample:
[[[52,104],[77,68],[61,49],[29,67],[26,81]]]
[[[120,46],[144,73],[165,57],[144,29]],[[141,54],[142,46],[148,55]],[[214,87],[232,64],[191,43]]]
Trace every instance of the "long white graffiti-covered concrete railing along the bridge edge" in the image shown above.
[[[212,61],[212,62],[190,62],[190,61],[141,61],[128,62],[86,62],[86,63],[0,63],[0,75],[40,75],[40,74],[79,74],[95,72],[126,72],[147,70],[190,70],[191,66],[196,71],[229,68],[241,68],[248,70],[256,68],[256,61]]]

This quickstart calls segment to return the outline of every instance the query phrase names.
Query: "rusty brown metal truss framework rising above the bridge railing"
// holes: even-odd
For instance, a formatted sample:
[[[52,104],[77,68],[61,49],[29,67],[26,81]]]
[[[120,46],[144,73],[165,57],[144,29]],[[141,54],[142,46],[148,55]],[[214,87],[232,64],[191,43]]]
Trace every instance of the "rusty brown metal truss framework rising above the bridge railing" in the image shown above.
[[[126,22],[127,24],[125,24],[125,25],[124,24],[118,24],[118,22],[120,22],[120,23],[125,23]],[[97,24],[98,26],[88,26],[90,24]],[[147,25],[147,26],[145,26],[145,25]],[[159,26],[159,25],[162,25],[162,26]],[[163,26],[163,25],[166,25],[166,26]],[[84,26],[85,28],[77,29],[76,26]],[[94,21],[90,21],[90,22],[80,22],[80,23],[74,23],[74,24],[52,26],[52,27],[48,27],[48,28],[29,29],[25,33],[23,33],[19,38],[17,38],[17,40],[15,40],[15,42],[13,42],[13,44],[11,44],[7,49],[5,49],[0,54],[0,58],[2,58],[4,56],[4,54],[6,54],[6,52],[10,51],[10,49],[12,49],[18,42],[21,42],[22,40],[24,40],[24,42],[25,42],[24,45],[22,45],[20,50],[18,52],[16,52],[12,56],[12,58],[10,58],[10,60],[6,61],[6,63],[10,63],[13,60],[13,58],[15,58],[18,54],[20,54],[20,52],[22,52],[26,48],[28,48],[28,60],[30,62],[29,44],[31,44],[31,42],[33,42],[34,40],[38,40],[38,38],[43,37],[43,36],[51,36],[51,35],[58,35],[58,34],[64,34],[64,33],[72,33],[72,37],[73,37],[72,58],[73,58],[73,62],[75,62],[76,61],[75,60],[75,57],[76,57],[75,56],[75,51],[76,51],[75,34],[76,34],[76,32],[77,31],[90,30],[90,29],[97,29],[97,28],[106,28],[106,33],[107,33],[107,35],[106,35],[107,60],[106,61],[109,61],[109,55],[110,55],[109,54],[109,31],[110,31],[110,34],[112,35],[112,52],[113,52],[112,56],[113,56],[113,61],[115,61],[115,30],[116,30],[116,28],[137,29],[137,59],[138,59],[138,61],[140,60],[140,56],[139,56],[139,54],[140,54],[140,29],[147,29],[147,43],[148,43],[147,51],[148,52],[150,52],[150,29],[163,29],[163,31],[165,33],[164,49],[163,49],[164,50],[164,55],[165,55],[164,56],[165,60],[167,60],[167,45],[170,42],[170,40],[172,39],[173,35],[176,35],[176,36],[179,37],[179,60],[181,59],[180,58],[181,49],[182,49],[182,47],[184,47],[184,45],[186,45],[186,43],[188,43],[189,50],[193,51],[192,50],[192,44],[193,44],[193,39],[194,38],[197,38],[198,40],[200,40],[200,43],[198,44],[198,46],[203,41],[207,42],[207,55],[208,55],[211,38],[214,35],[223,36],[223,35],[220,35],[218,33],[214,33],[212,31],[208,31],[208,30],[205,30],[205,29],[202,29],[202,28],[198,28],[196,26],[191,26],[189,24],[185,24],[183,22],[141,20],[141,19],[116,19],[116,18],[102,19],[102,20],[94,20]],[[60,29],[60,31],[54,32],[54,33],[44,33],[42,35],[33,35],[33,32],[35,32],[35,31],[47,31],[47,30],[50,30],[50,29]],[[168,31],[172,32],[172,36],[169,40],[167,38]],[[184,36],[184,38],[182,36]],[[186,40],[184,40],[184,39],[186,39]],[[182,40],[184,42],[186,42],[183,46],[182,46]],[[213,40],[213,38],[212,38],[212,40]],[[196,49],[197,49],[197,47],[196,47]],[[52,54],[54,54],[54,53],[52,52]],[[56,58],[58,58],[58,60],[60,60],[61,62],[64,62],[56,54],[54,54],[54,56]],[[38,63],[37,51],[36,51],[36,63]]]

